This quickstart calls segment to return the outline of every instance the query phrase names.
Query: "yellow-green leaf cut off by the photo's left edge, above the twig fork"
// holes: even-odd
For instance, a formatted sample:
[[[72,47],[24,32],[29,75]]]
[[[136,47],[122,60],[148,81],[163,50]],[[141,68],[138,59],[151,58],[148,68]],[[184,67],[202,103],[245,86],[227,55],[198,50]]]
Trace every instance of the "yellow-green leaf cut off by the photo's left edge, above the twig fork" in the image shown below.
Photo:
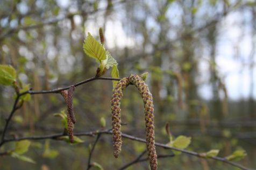
[[[0,65],[0,84],[10,86],[16,81],[16,70],[11,65]]]

